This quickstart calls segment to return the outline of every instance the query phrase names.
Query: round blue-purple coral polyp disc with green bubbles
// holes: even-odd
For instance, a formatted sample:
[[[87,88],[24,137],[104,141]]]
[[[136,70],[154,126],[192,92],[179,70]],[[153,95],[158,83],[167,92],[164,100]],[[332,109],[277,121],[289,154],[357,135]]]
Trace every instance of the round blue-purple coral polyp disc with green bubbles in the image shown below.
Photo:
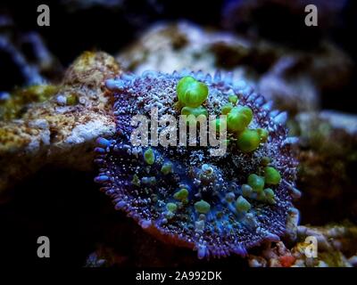
[[[158,239],[197,250],[199,258],[245,256],[265,240],[279,240],[297,192],[285,112],[270,110],[262,95],[220,72],[124,74],[106,87],[116,134],[97,141],[95,181],[116,209]],[[211,145],[134,145],[131,119],[151,118],[153,109],[173,118],[227,115],[227,150],[212,156]],[[216,126],[224,125],[221,119]]]

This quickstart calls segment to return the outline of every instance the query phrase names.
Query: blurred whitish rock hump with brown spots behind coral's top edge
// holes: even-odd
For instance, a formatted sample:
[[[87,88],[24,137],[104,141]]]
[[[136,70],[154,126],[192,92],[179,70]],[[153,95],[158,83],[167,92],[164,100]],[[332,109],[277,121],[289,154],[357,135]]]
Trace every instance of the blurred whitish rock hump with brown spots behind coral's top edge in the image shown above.
[[[250,48],[250,44],[243,38],[206,31],[187,21],[179,21],[156,24],[149,28],[137,42],[119,53],[117,60],[123,68],[138,74],[147,69],[162,72],[202,69],[212,73],[218,63],[215,53],[227,49],[238,62]],[[237,67],[237,62],[234,67]]]

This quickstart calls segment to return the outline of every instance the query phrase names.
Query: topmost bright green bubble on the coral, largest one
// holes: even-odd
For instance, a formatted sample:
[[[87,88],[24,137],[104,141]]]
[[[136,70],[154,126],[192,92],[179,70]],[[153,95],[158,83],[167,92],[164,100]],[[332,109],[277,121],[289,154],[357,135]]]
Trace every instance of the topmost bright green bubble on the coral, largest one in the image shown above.
[[[208,87],[194,77],[183,77],[176,86],[179,102],[184,106],[198,107],[208,96]]]

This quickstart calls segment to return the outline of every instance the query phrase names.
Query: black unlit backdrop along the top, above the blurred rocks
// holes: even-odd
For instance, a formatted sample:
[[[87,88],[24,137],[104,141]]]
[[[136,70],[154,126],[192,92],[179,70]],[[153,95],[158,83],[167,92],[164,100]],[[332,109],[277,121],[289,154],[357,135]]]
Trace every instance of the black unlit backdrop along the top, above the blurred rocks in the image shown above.
[[[79,1],[80,2],[80,1]],[[85,3],[85,1],[81,1]],[[108,1],[102,1],[105,3]],[[76,1],[2,1],[0,12],[12,16],[13,33],[37,31],[50,52],[59,59],[62,68],[67,67],[82,51],[104,50],[118,53],[137,36],[158,20],[191,20],[203,27],[219,28],[245,34],[254,29],[253,37],[262,37],[298,49],[316,48],[320,40],[331,39],[342,47],[356,61],[357,3],[351,0],[314,0],[308,4],[319,6],[324,3],[338,4],[341,11],[331,19],[323,19],[319,14],[319,27],[304,25],[305,13],[296,13],[281,4],[285,1],[267,1],[245,20],[238,20],[239,14],[228,14],[228,4],[243,3],[242,0],[217,1],[170,1],[170,0],[122,0],[123,4],[106,6],[97,4],[81,8]],[[286,3],[295,1],[287,1]],[[66,4],[68,3],[68,4]],[[37,5],[48,4],[51,11],[50,27],[37,26]],[[73,11],[69,7],[72,8]],[[75,7],[77,7],[75,9]],[[232,13],[232,12],[231,12]],[[1,34],[1,33],[0,33]],[[26,51],[26,46],[24,46]],[[29,52],[29,51],[28,51]],[[1,52],[0,52],[1,55]],[[11,90],[21,85],[23,78],[13,70],[11,61],[0,56],[0,91]],[[346,110],[355,112],[353,104],[357,90],[356,69],[345,88],[340,90],[338,100],[335,94],[322,96],[322,109]]]

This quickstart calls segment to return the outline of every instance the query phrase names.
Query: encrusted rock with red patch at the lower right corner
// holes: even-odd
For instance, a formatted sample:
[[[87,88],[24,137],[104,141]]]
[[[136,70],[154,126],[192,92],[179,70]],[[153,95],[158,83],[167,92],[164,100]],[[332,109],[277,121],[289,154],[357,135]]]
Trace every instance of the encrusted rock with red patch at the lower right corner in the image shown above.
[[[331,224],[297,228],[297,242],[267,244],[260,256],[248,256],[253,267],[352,267],[356,266],[357,228],[353,224]],[[311,240],[314,241],[311,242]],[[313,255],[311,245],[316,246]]]

